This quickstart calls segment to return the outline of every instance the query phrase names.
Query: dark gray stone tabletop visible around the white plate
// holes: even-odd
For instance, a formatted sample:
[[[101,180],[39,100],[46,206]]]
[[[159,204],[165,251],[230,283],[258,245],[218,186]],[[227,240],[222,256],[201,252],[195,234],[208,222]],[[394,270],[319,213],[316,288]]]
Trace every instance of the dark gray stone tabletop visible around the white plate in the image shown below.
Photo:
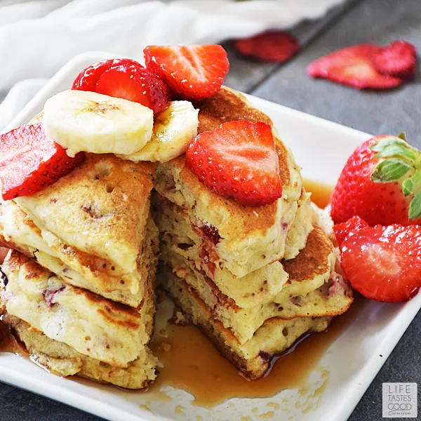
[[[406,39],[421,50],[421,0],[353,0],[321,22],[300,25],[295,34],[305,48],[287,65],[248,62],[229,50],[231,71],[227,84],[368,133],[405,130],[410,142],[421,147],[421,135],[417,131],[421,117],[420,76],[396,91],[369,93],[315,81],[305,74],[305,67],[312,60],[328,51],[361,42],[386,44],[394,39]],[[382,420],[382,382],[418,382],[418,401],[421,401],[420,349],[421,314],[418,314],[349,421]],[[29,420],[100,418],[0,383],[0,421]]]

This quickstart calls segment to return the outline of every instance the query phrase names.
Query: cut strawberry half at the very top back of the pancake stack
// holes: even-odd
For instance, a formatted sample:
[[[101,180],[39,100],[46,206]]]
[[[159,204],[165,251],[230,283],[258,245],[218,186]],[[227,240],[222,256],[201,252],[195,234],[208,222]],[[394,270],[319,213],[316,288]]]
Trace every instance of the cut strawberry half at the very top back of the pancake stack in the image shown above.
[[[222,46],[148,46],[143,52],[147,68],[184,100],[203,100],[217,93],[229,69]]]

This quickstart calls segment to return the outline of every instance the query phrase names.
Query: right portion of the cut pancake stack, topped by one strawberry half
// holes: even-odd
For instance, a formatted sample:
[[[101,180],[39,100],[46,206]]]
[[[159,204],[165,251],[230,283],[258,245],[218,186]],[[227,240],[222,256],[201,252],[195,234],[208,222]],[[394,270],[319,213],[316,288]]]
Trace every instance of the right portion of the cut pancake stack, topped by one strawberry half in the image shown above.
[[[196,107],[199,133],[241,119],[272,125],[228,88]],[[250,379],[352,303],[335,272],[328,216],[312,206],[293,155],[274,138],[283,196],[270,205],[250,208],[218,196],[189,171],[185,156],[159,164],[152,198],[163,288]]]

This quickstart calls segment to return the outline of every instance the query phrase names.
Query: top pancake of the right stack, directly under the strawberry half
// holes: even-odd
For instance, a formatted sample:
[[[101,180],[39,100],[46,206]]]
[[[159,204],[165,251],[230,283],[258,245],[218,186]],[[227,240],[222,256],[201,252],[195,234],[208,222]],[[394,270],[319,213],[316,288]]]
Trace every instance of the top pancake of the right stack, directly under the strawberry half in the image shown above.
[[[199,107],[198,133],[240,119],[265,121],[273,127],[267,115],[229,88],[223,87],[212,98],[194,105]],[[288,230],[305,192],[293,155],[274,135],[283,196],[270,205],[243,206],[215,194],[185,166],[185,155],[160,163],[156,171],[156,191],[187,213],[203,246],[234,276],[245,276],[283,258]],[[297,253],[304,246],[305,241],[297,247]]]

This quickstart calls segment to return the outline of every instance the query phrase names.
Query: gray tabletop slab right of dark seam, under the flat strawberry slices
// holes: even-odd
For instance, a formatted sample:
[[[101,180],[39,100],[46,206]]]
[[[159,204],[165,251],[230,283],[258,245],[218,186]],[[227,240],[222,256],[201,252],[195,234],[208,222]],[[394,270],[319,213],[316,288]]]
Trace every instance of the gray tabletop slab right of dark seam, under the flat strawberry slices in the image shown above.
[[[406,131],[408,140],[421,147],[420,75],[392,91],[368,92],[311,79],[305,72],[309,63],[330,51],[370,41],[388,44],[396,39],[410,41],[421,51],[421,1],[360,1],[252,93],[368,133]]]

